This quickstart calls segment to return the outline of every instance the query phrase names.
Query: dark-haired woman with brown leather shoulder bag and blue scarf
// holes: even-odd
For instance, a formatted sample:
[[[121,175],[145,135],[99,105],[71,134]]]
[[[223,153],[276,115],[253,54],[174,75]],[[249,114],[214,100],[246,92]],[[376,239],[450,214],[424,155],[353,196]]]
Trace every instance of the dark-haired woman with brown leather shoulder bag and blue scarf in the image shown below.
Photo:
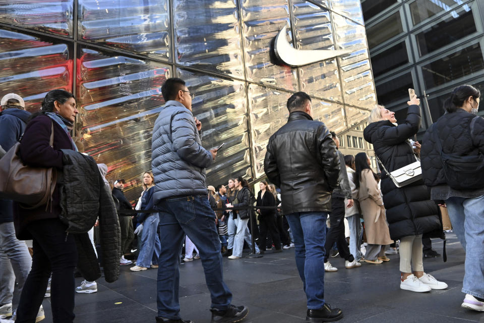
[[[42,111],[32,116],[20,144],[20,157],[32,167],[55,167],[62,170],[61,149],[77,150],[71,138],[76,115],[76,99],[65,90],[52,90],[45,95]],[[50,134],[53,131],[53,144]],[[44,298],[52,273],[50,285],[52,320],[74,320],[74,268],[77,264],[77,248],[74,236],[66,233],[67,225],[59,220],[61,214],[59,184],[56,185],[49,205],[33,209],[18,205],[14,214],[17,236],[32,239],[32,270],[25,282],[17,309],[17,322],[34,322]]]

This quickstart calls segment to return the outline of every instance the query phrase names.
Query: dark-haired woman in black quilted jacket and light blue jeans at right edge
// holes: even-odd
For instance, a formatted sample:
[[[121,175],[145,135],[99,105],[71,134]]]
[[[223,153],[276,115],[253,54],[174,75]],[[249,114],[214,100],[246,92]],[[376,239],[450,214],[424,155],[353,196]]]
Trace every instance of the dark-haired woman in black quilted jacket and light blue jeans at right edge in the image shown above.
[[[423,137],[421,167],[431,198],[447,206],[452,228],[466,250],[461,306],[484,311],[484,119],[476,116],[479,97],[470,85],[452,91],[444,103],[447,113]],[[449,169],[455,162],[464,168]]]

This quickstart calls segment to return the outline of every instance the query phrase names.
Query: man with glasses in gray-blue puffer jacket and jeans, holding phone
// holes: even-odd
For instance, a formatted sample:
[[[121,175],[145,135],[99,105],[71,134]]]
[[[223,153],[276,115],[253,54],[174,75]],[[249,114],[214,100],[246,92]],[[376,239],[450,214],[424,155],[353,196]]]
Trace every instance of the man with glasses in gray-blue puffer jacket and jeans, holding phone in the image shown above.
[[[161,93],[166,103],[156,119],[151,143],[156,185],[153,204],[160,209],[161,241],[156,321],[191,322],[181,320],[178,301],[179,255],[187,234],[202,258],[212,299],[212,322],[238,322],[249,309],[231,304],[232,294],[223,282],[220,239],[205,184],[205,168],[212,164],[217,149],[202,147],[202,124],[192,114],[195,94],[185,81],[169,78]]]

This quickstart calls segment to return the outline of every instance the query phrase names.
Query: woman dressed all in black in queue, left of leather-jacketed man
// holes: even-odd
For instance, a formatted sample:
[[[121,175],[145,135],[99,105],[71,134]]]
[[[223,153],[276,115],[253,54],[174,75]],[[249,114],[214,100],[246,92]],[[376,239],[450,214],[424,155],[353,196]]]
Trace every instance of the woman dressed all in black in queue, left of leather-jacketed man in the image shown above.
[[[257,209],[257,213],[260,214],[259,216],[259,232],[260,232],[260,241],[259,241],[259,249],[261,253],[266,251],[266,238],[267,238],[267,231],[271,235],[272,242],[276,250],[274,252],[281,252],[281,239],[279,236],[279,231],[276,227],[276,199],[274,195],[268,190],[267,182],[261,181],[259,183],[259,194],[257,195],[257,204],[256,207],[272,207],[272,208],[262,208]]]

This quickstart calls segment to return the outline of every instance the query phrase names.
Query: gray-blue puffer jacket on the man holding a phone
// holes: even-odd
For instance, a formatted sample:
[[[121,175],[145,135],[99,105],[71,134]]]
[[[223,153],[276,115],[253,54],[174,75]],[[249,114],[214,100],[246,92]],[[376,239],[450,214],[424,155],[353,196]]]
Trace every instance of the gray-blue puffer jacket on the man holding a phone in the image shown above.
[[[192,112],[180,102],[167,101],[160,112],[151,151],[155,205],[173,196],[207,195],[205,168],[212,164],[212,154],[202,147]]]

